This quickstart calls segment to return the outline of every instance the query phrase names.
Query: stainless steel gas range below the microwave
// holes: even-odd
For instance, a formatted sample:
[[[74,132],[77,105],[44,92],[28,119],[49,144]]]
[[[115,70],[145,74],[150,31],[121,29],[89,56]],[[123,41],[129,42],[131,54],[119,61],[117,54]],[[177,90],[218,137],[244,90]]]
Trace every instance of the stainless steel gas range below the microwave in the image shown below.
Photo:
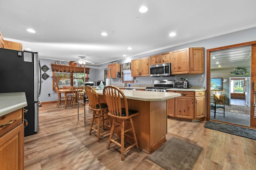
[[[166,89],[173,88],[174,80],[154,80],[154,87],[146,87],[146,91],[167,92]]]

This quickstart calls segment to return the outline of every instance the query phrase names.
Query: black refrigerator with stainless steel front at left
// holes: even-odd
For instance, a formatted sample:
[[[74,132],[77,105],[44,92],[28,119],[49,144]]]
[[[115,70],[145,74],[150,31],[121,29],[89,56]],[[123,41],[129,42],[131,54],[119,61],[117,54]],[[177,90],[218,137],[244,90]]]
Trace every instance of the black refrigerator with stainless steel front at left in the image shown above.
[[[38,53],[0,49],[0,93],[25,92],[24,136],[38,132],[38,96],[41,90],[41,66]]]

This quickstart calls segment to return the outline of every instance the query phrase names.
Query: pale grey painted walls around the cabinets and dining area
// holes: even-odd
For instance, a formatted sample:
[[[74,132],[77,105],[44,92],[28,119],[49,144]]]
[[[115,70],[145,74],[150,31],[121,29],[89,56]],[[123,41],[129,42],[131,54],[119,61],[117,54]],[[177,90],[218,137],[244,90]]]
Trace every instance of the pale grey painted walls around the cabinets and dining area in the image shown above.
[[[156,55],[156,54],[165,53],[165,52],[174,51],[174,50],[183,49],[183,48],[188,48],[188,47],[204,47],[205,48],[205,60],[204,60],[205,71],[203,74],[204,82],[198,82],[198,79],[201,78],[202,74],[185,74],[185,75],[176,75],[173,77],[162,77],[162,78],[147,76],[147,77],[136,77],[135,80],[140,80],[140,83],[135,82],[135,83],[131,84],[131,86],[132,85],[153,85],[153,83],[151,83],[151,80],[164,80],[164,79],[176,80],[176,78],[188,78],[188,82],[190,83],[190,85],[206,87],[206,81],[205,81],[205,78],[206,78],[206,50],[217,48],[217,47],[223,47],[223,46],[227,46],[227,45],[234,45],[234,44],[239,44],[239,43],[250,42],[250,41],[256,41],[256,27],[251,28],[251,29],[245,29],[242,31],[236,31],[234,33],[220,35],[217,37],[208,38],[208,39],[204,39],[204,40],[200,40],[200,41],[186,43],[183,45],[176,45],[176,46],[170,47],[168,49],[164,49],[164,50],[160,50],[160,51],[156,51],[156,52],[152,52],[152,53],[147,53],[147,54],[143,54],[143,55],[138,55],[138,56],[132,57],[132,58],[122,59],[122,60],[119,60],[118,63],[120,63],[120,64],[128,63],[132,59],[138,59],[138,58],[142,58],[142,57],[147,57],[147,56],[151,56],[151,55]],[[38,54],[39,54],[39,58],[40,58],[40,52],[38,52]],[[42,66],[44,65],[44,64],[42,64],[43,62],[46,65],[47,64],[50,65],[50,63],[53,62],[52,60],[44,60],[44,59],[40,59],[40,61],[41,61]],[[102,64],[99,66],[107,67],[108,64],[110,64],[110,63]],[[47,74],[49,73],[48,75],[52,76],[51,70],[48,70],[46,73]],[[105,80],[104,70],[90,69],[89,78],[90,78],[89,81],[92,81],[94,83],[95,83],[95,80],[97,80],[97,81]],[[112,82],[112,84],[117,84],[117,85],[122,84],[120,82],[120,78],[114,78],[111,80],[111,82]],[[58,99],[57,95],[55,95],[55,92],[52,91],[52,78],[51,77],[46,79],[45,81],[43,81],[42,87],[43,87],[42,94],[39,97],[39,100],[41,100],[41,102],[56,101]],[[48,93],[51,94],[51,97],[48,97]]]

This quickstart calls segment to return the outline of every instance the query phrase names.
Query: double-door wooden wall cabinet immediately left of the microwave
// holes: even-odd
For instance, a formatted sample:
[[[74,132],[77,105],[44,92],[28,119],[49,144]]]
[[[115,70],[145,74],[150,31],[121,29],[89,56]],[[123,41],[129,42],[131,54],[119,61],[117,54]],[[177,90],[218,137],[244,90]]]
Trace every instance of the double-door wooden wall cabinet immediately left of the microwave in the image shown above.
[[[132,77],[149,76],[150,57],[134,59],[131,62]]]

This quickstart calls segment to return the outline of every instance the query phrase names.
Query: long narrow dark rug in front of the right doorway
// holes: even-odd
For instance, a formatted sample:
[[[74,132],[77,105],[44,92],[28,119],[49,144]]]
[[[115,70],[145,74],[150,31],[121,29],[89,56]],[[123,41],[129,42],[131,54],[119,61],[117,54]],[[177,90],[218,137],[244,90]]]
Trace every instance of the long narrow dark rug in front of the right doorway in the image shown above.
[[[208,129],[213,129],[216,131],[221,131],[225,133],[230,133],[232,135],[237,135],[241,137],[246,137],[250,139],[256,140],[256,130],[249,129],[246,127],[240,127],[240,126],[234,126],[234,125],[228,125],[225,123],[218,123],[214,121],[206,121],[204,124],[204,127]]]

